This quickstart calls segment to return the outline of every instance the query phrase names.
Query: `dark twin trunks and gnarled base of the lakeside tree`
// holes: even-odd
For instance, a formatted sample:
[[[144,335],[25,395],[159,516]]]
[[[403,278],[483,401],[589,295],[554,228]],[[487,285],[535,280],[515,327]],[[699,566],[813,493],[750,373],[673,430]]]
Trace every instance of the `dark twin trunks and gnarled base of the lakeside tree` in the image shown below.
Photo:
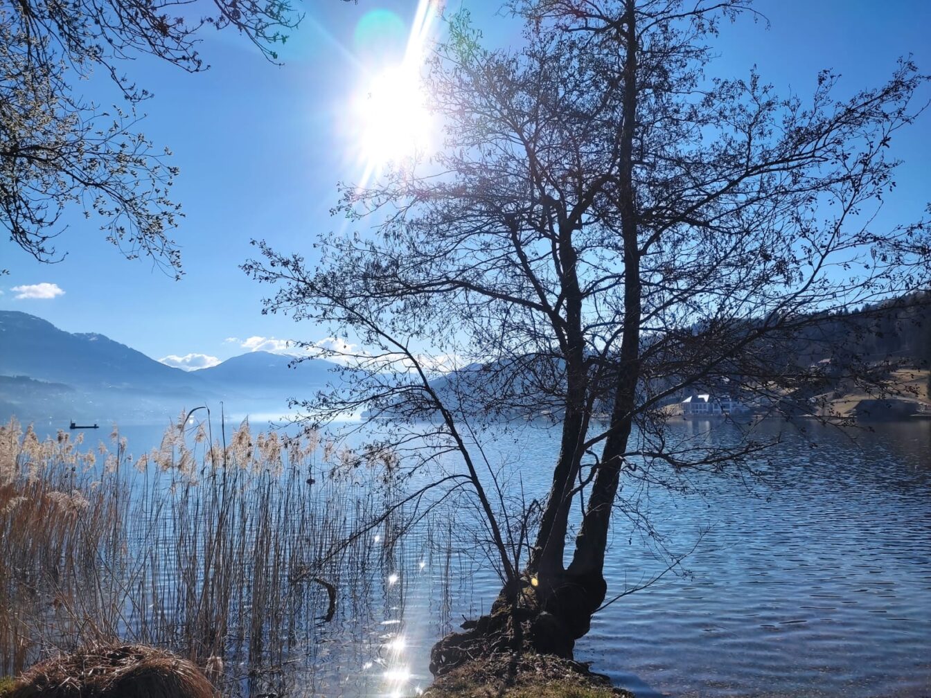
[[[621,127],[618,190],[624,240],[624,330],[615,386],[609,436],[602,453],[591,497],[575,540],[569,569],[563,567],[572,490],[578,476],[587,433],[585,404],[588,389],[584,344],[573,344],[573,330],[581,330],[582,295],[575,276],[571,245],[562,248],[564,291],[571,351],[567,352],[567,404],[559,460],[537,536],[537,545],[524,575],[502,590],[489,615],[466,624],[437,643],[430,670],[441,674],[469,659],[496,651],[533,651],[573,658],[575,640],[586,635],[591,616],[604,600],[604,552],[614,497],[620,483],[623,454],[633,428],[637,385],[640,381],[641,283],[640,248],[633,185],[633,135],[637,116],[637,31],[634,0],[627,0],[622,28],[627,45],[624,70],[624,121]],[[571,232],[571,231],[570,231]],[[568,272],[568,274],[567,274]],[[574,286],[573,286],[574,284]],[[573,323],[577,318],[577,325]],[[581,339],[581,331],[578,333]],[[517,646],[516,646],[517,645]]]

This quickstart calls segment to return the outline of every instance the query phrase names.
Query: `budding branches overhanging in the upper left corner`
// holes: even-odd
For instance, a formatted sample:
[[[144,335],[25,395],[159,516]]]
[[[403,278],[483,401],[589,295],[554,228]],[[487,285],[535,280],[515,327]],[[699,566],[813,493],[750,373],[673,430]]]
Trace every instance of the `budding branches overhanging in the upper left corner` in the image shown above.
[[[53,239],[68,208],[97,214],[107,239],[130,258],[147,255],[172,274],[181,257],[169,237],[179,207],[169,199],[177,169],[137,130],[135,108],[151,94],[123,73],[142,54],[196,73],[198,34],[232,28],[271,60],[297,18],[286,0],[0,3],[0,222],[41,262],[61,254]],[[123,108],[82,99],[74,82],[109,75]]]

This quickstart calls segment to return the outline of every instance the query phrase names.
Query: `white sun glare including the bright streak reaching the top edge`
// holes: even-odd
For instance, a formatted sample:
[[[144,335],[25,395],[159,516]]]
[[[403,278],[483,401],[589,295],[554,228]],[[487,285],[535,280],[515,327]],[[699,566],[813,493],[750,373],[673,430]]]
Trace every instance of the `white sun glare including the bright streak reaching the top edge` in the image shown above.
[[[420,0],[403,60],[371,66],[359,86],[353,122],[356,148],[365,168],[363,184],[389,163],[398,164],[429,146],[432,119],[421,74],[436,13],[433,0]]]

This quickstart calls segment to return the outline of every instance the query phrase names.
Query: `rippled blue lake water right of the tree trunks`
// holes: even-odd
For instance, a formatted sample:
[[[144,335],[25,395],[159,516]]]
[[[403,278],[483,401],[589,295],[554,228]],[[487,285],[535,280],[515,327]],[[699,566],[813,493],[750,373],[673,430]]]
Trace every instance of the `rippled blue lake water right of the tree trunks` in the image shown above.
[[[775,428],[775,427],[773,427]],[[770,487],[656,503],[685,566],[607,609],[579,646],[641,698],[931,693],[931,423],[787,438]],[[615,539],[611,577],[641,552]]]

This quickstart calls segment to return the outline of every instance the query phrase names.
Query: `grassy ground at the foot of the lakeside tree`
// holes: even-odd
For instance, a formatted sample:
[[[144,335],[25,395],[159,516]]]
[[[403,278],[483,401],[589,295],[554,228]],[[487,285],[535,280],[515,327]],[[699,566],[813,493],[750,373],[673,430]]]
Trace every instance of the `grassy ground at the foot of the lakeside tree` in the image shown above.
[[[549,654],[496,655],[436,678],[423,698],[634,698],[587,664]]]

